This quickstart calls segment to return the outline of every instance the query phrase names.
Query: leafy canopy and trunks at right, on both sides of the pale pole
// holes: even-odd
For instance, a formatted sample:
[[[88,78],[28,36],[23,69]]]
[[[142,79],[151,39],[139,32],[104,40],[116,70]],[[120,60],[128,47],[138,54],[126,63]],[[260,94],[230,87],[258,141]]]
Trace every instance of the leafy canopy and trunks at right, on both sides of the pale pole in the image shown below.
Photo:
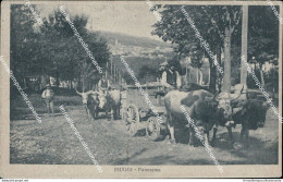
[[[161,10],[162,24],[153,25],[153,35],[174,45],[174,51],[183,57],[190,57],[192,66],[200,68],[202,57],[209,58],[210,74],[214,87],[217,74],[214,63],[204,45],[196,36],[196,31],[189,24],[188,17],[209,45],[210,51],[217,56],[220,65],[224,65],[224,89],[230,90],[231,64],[241,63],[241,5],[156,5]],[[249,7],[248,20],[248,56],[257,61],[268,61],[268,57],[278,57],[279,24],[268,5]],[[187,13],[187,16],[186,14]],[[222,60],[221,54],[224,56]],[[175,60],[180,61],[180,60]],[[234,71],[234,69],[233,69]],[[213,89],[213,88],[212,88]]]

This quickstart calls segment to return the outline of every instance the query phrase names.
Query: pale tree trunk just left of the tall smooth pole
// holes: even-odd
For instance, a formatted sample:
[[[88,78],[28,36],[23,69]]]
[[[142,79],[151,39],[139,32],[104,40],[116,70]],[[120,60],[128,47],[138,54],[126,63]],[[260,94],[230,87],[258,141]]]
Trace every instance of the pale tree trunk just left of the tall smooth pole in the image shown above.
[[[223,92],[230,93],[231,88],[231,28],[225,28],[224,38],[224,80]]]

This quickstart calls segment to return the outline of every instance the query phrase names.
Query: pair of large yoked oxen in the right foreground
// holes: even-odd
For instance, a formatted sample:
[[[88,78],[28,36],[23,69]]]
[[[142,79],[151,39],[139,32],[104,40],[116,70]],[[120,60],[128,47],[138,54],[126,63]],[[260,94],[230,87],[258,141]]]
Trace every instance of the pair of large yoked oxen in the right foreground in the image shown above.
[[[175,143],[174,128],[189,128],[189,145],[196,144],[196,131],[209,142],[209,132],[213,129],[211,145],[216,142],[218,126],[225,126],[229,132],[230,146],[234,147],[232,129],[242,124],[241,139],[247,139],[249,130],[263,128],[268,102],[247,99],[246,93],[220,93],[212,95],[205,89],[181,92],[171,90],[164,97],[167,108],[167,129],[172,143]],[[238,89],[237,89],[238,90]],[[246,89],[245,89],[246,92]],[[181,107],[185,109],[181,109]],[[187,112],[187,113],[184,113]],[[187,116],[195,125],[188,122]],[[196,129],[194,129],[196,128]]]

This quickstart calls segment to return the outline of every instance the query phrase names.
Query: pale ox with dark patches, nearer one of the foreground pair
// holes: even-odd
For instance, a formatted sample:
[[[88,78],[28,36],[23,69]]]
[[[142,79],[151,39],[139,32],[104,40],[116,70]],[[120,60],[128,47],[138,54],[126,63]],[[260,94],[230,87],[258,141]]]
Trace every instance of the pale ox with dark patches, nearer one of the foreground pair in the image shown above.
[[[183,106],[188,116],[195,121],[199,133],[209,139],[209,131],[218,123],[225,124],[232,136],[232,108],[231,99],[218,97],[211,93],[199,89],[192,92],[171,90],[164,97],[167,108],[167,129],[169,129],[171,142],[175,143],[174,126],[187,125],[190,129],[189,145],[194,144],[195,130],[188,123],[181,110]]]

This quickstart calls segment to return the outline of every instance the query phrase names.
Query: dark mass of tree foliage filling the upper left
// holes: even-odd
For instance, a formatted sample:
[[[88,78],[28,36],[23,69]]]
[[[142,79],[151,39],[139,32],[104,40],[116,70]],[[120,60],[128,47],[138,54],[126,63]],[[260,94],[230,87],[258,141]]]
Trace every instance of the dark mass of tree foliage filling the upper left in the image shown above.
[[[83,82],[98,77],[98,71],[59,9],[44,17],[37,28],[25,5],[12,5],[11,11],[11,69],[16,77],[48,75],[62,81],[83,78]],[[107,43],[86,29],[87,16],[70,16],[98,64],[106,66],[110,59]]]

